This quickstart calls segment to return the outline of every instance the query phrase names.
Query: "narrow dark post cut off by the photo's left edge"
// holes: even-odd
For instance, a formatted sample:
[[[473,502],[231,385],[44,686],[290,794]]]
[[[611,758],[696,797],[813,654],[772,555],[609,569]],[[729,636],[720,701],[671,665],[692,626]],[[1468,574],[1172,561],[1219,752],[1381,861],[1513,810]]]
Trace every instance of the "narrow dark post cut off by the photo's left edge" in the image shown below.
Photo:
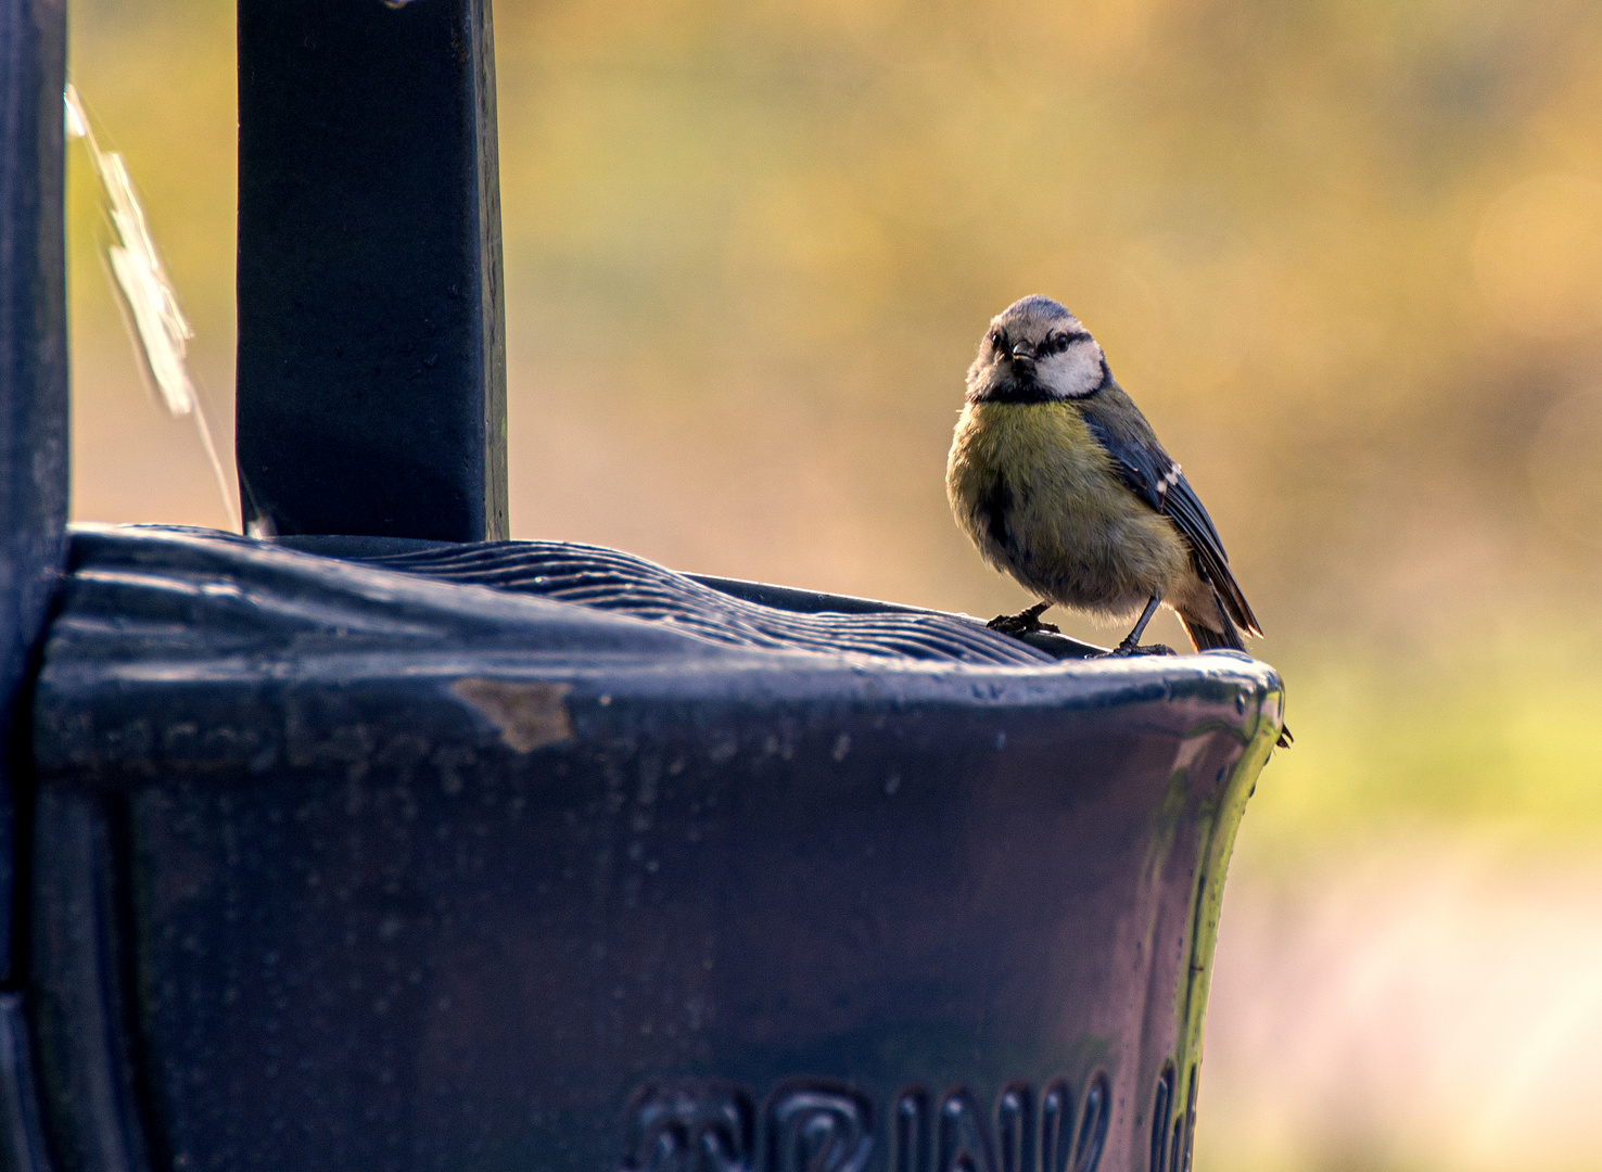
[[[0,970],[13,972],[27,680],[67,520],[64,0],[0,0]]]

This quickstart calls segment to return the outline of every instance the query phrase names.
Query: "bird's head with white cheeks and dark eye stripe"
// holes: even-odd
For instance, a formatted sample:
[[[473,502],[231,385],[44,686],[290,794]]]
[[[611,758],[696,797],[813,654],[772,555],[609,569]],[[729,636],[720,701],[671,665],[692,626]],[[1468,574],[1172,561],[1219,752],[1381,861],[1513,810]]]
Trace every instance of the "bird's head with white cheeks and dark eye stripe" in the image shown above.
[[[1051,298],[1027,296],[993,319],[968,368],[968,400],[1038,403],[1085,399],[1112,383],[1102,349]]]

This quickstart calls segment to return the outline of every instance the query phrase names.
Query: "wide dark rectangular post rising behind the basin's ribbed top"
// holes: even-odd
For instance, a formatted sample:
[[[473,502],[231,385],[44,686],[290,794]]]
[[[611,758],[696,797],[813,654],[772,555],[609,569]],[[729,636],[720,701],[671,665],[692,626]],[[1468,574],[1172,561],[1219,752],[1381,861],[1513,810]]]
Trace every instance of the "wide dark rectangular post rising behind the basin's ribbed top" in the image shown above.
[[[239,480],[276,533],[506,536],[489,0],[239,0]]]

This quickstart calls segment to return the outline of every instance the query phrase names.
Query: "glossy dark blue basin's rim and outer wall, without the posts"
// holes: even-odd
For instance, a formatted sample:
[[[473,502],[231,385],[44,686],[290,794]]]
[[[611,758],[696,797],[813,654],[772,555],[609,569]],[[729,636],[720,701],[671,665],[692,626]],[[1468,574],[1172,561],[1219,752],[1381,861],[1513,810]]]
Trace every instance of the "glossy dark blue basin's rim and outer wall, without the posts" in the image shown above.
[[[964,661],[955,618],[950,658],[791,650],[796,615],[747,605],[710,632],[77,533],[34,728],[40,1079],[56,1135],[99,1129],[62,1167],[1093,1172],[1174,1121],[1184,1148],[1153,1092],[1195,1086],[1274,672]],[[50,1020],[117,981],[109,1031]],[[112,1084],[122,1114],[72,1094]]]

